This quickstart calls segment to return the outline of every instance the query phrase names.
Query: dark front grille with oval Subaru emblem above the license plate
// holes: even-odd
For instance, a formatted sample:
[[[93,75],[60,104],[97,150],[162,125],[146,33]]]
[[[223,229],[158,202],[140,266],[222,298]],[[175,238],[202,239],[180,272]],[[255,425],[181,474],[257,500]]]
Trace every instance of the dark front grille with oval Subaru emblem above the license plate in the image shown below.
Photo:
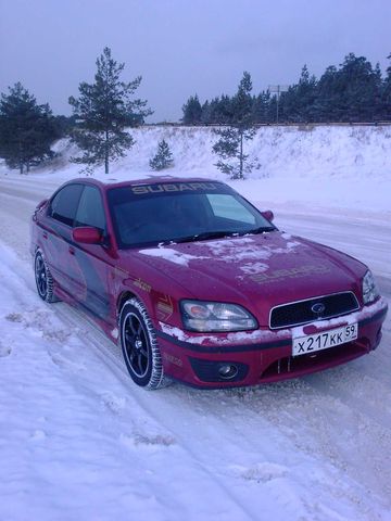
[[[316,304],[323,306],[316,306]],[[324,309],[315,313],[314,307],[324,307]],[[360,305],[354,293],[351,291],[335,293],[274,307],[270,312],[269,326],[270,329],[301,326],[315,320],[346,315],[357,309],[360,309]]]

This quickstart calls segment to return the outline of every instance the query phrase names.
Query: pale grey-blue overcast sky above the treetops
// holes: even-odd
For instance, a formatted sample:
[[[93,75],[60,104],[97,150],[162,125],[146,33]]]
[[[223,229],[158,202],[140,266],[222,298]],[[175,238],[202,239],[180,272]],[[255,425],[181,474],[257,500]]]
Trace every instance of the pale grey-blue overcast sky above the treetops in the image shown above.
[[[189,96],[232,94],[243,71],[254,92],[349,52],[384,72],[390,23],[391,0],[0,0],[0,92],[21,81],[68,115],[109,46],[124,80],[142,76],[148,120],[177,120]]]

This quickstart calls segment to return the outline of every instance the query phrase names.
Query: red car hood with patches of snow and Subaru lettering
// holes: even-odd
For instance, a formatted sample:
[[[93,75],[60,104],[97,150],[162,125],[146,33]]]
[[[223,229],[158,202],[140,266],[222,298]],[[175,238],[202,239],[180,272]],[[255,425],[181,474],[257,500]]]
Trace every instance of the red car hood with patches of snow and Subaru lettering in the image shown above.
[[[280,231],[148,247],[139,260],[179,284],[181,297],[235,302],[260,310],[353,291],[366,267],[330,247]],[[260,309],[262,308],[262,309]]]

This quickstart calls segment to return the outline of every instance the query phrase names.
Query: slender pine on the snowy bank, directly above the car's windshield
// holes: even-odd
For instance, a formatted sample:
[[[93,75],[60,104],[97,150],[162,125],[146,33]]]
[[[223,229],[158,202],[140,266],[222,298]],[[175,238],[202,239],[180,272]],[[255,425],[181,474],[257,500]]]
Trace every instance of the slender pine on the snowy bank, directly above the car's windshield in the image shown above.
[[[251,170],[251,166],[247,164],[249,156],[244,154],[244,141],[255,136],[251,90],[251,76],[244,72],[231,100],[232,116],[229,127],[216,130],[219,139],[212,149],[219,156],[217,168],[228,174],[231,179],[244,179],[244,170]]]

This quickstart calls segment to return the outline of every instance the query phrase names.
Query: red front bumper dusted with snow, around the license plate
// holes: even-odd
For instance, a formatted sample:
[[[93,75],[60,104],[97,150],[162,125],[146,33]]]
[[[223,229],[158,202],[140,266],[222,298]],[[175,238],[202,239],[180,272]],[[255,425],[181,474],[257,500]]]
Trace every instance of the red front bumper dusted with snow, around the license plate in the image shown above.
[[[220,389],[275,382],[328,369],[374,351],[388,306],[383,298],[360,312],[300,328],[240,333],[190,333],[160,322],[156,330],[165,373],[189,385]],[[292,338],[358,323],[355,341],[292,356]],[[224,368],[235,367],[230,377]]]

